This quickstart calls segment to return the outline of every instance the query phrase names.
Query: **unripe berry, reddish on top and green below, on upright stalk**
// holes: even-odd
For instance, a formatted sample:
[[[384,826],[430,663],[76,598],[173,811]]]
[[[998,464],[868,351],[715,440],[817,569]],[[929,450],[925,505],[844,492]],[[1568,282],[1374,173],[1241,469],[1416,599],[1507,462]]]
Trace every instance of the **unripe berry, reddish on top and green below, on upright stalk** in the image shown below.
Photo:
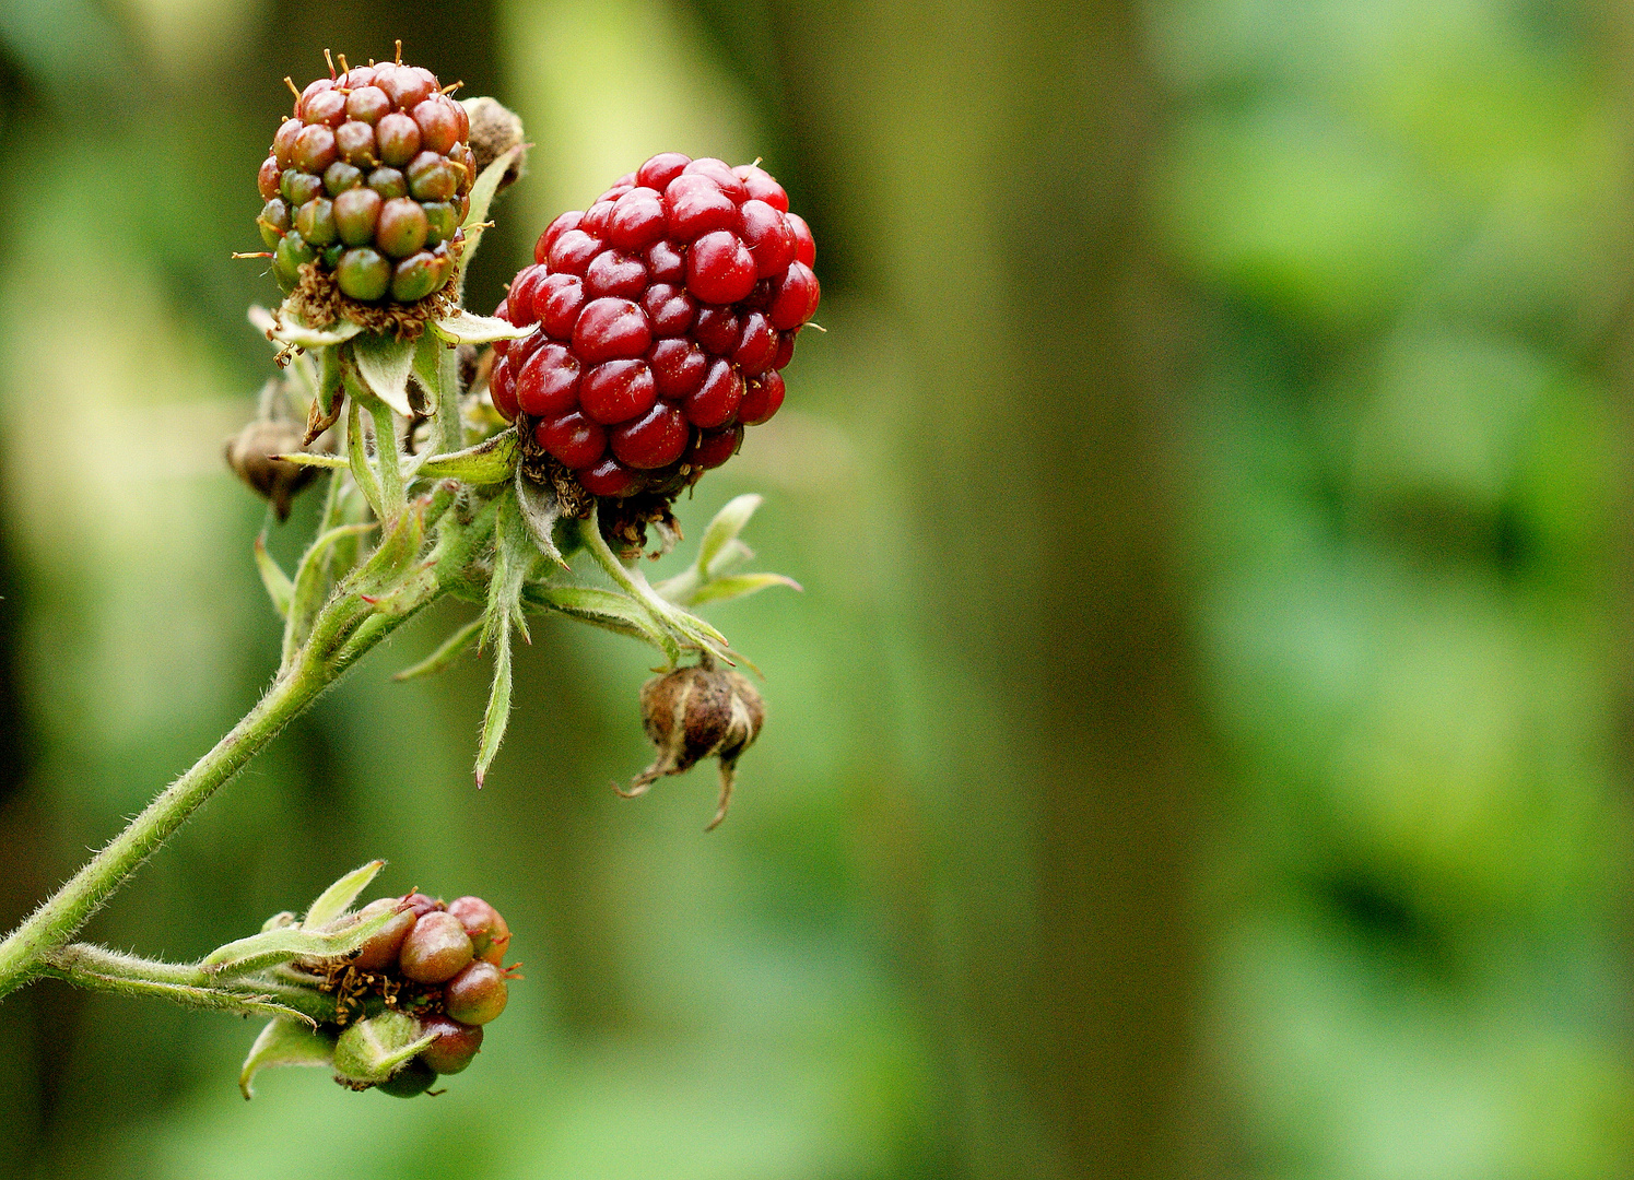
[[[294,289],[315,263],[361,302],[443,289],[475,180],[469,134],[466,110],[418,65],[371,62],[312,82],[258,177],[279,286]]]

